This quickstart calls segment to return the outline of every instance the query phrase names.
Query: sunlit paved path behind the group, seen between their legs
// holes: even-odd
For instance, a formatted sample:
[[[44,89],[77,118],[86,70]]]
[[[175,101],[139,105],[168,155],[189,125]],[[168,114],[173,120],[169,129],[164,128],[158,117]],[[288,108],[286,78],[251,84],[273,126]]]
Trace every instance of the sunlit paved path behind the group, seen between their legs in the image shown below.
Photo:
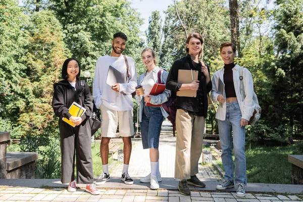
[[[114,142],[122,142],[122,139],[113,139]],[[131,177],[144,177],[150,173],[149,149],[143,149],[141,138],[132,138],[133,148],[130,157],[128,173]],[[172,125],[165,120],[162,124],[159,144],[160,173],[162,177],[174,177],[176,137],[173,137]],[[200,158],[199,163],[202,162]],[[212,165],[199,164],[197,177],[219,179],[220,175]],[[123,163],[117,162],[110,168],[110,175],[121,177]]]

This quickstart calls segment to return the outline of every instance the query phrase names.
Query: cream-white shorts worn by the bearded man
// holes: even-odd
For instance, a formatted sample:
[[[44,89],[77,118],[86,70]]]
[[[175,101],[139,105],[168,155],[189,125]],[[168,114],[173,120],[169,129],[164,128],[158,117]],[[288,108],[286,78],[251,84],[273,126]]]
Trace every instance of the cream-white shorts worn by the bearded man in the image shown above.
[[[135,134],[132,110],[116,111],[102,105],[100,111],[102,137],[116,137],[118,121],[121,137],[129,137]]]

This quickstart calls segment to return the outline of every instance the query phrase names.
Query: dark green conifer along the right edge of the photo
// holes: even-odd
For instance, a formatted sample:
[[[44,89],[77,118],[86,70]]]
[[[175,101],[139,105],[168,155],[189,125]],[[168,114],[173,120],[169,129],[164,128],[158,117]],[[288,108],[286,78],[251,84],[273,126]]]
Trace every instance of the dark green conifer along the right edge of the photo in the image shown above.
[[[276,39],[277,53],[274,77],[276,107],[282,112],[278,122],[296,133],[303,130],[303,2],[277,0]]]

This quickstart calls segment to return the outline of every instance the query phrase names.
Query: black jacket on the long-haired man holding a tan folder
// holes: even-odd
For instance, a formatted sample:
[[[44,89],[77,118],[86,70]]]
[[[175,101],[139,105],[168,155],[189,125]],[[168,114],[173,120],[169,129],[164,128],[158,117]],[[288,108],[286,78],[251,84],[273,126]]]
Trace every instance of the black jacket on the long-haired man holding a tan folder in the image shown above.
[[[206,78],[205,75],[201,72],[201,66],[199,67],[199,69],[195,69],[193,62],[190,58],[190,55],[187,55],[186,57],[178,59],[174,62],[166,81],[166,88],[168,90],[172,90],[175,92],[179,91],[179,88],[182,85],[182,83],[177,82],[179,69],[198,70],[199,89],[196,97],[177,96],[177,108],[179,109],[181,108],[189,112],[193,112],[193,114],[197,114],[197,116],[203,116],[206,118],[207,110],[208,110],[207,93],[209,93],[212,90],[212,81],[206,84]],[[208,67],[208,71],[210,72],[209,67]],[[203,109],[203,112],[199,112],[199,108]]]

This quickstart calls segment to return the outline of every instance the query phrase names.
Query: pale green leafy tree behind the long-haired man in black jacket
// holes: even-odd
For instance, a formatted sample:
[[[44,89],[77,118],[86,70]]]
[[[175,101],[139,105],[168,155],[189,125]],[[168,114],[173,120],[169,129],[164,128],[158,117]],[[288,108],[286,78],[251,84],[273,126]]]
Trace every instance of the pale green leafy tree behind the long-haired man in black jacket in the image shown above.
[[[176,14],[176,8],[178,15]],[[166,11],[164,26],[164,44],[162,53],[168,52],[175,60],[184,56],[184,47],[187,33],[200,33],[204,39],[202,60],[210,63],[211,58],[218,56],[218,47],[222,41],[228,38],[226,20],[228,10],[224,7],[224,1],[179,1],[171,5]],[[179,20],[181,19],[181,20]],[[162,59],[164,60],[163,56]]]

